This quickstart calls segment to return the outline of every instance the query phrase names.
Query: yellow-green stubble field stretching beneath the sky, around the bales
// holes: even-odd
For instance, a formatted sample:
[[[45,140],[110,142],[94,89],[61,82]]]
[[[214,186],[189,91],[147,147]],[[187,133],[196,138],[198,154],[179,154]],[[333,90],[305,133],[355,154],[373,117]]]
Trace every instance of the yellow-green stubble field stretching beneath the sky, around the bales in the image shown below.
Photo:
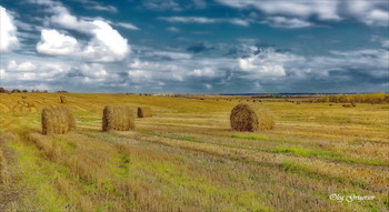
[[[60,105],[60,95],[78,130],[42,135],[40,110]],[[238,101],[70,93],[0,100],[0,211],[388,211],[389,104],[265,101],[276,129],[241,133],[229,125]],[[151,107],[153,117],[137,119],[136,131],[104,133],[108,104]]]

